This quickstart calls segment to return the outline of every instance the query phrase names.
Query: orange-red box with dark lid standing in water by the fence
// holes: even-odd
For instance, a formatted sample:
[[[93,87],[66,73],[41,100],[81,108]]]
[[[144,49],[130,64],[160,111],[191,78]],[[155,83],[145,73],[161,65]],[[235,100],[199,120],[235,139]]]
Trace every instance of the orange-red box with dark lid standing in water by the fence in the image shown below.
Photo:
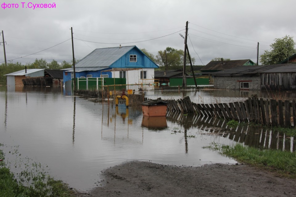
[[[161,99],[144,101],[142,111],[144,116],[166,116],[167,102]]]

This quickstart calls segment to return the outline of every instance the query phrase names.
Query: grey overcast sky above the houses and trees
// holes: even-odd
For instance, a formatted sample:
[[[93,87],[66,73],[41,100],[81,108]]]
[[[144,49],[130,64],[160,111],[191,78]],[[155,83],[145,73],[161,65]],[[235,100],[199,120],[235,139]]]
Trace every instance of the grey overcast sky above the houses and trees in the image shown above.
[[[53,2],[55,8],[29,8],[32,4]],[[179,33],[185,35],[188,21],[187,44],[195,65],[206,65],[216,57],[256,62],[257,42],[262,54],[270,49],[275,38],[290,35],[295,40],[296,32],[295,0],[0,0],[0,3],[19,4],[18,8],[0,8],[0,31],[4,32],[7,60],[66,41],[13,60],[22,64],[36,58],[70,62],[71,27],[75,58],[81,59],[96,48],[120,43],[146,48],[154,55],[167,46],[184,50]],[[145,41],[153,38],[158,39]],[[4,61],[2,45],[0,62]]]

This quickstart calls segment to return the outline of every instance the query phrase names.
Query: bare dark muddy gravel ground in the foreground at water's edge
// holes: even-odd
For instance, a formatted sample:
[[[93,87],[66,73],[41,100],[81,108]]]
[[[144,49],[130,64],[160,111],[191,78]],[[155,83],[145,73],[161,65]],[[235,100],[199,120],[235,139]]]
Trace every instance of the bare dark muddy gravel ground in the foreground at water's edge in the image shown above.
[[[296,180],[237,164],[201,167],[130,161],[101,172],[85,196],[296,196]]]

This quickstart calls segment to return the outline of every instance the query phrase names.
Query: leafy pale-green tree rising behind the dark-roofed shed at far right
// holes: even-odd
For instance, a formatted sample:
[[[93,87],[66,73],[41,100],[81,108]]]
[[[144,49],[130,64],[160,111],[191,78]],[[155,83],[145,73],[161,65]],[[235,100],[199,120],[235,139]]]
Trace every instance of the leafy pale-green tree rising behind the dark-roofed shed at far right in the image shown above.
[[[262,65],[279,64],[296,53],[293,37],[286,35],[282,38],[276,38],[274,41],[273,44],[269,45],[271,51],[265,50],[264,53],[260,55]]]

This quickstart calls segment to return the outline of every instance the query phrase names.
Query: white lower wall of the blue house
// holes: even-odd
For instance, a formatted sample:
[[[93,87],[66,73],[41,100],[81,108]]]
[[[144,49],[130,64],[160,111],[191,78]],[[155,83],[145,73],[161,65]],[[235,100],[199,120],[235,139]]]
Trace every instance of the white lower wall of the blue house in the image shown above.
[[[141,79],[141,72],[146,72],[146,79]],[[112,72],[112,78],[120,78],[120,71]],[[154,79],[154,68],[143,68],[140,70],[125,71],[127,84],[152,83]]]

